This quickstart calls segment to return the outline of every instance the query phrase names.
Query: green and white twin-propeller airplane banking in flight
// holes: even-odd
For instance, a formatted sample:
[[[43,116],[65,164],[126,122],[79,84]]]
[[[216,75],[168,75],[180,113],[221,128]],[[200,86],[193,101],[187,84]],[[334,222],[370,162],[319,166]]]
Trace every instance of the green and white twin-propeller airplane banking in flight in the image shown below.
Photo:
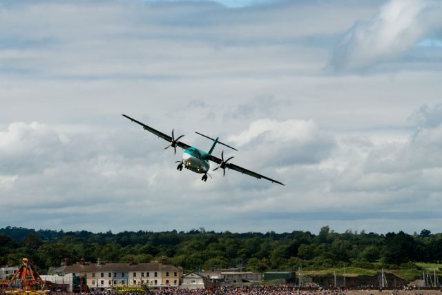
[[[177,165],[177,170],[181,171],[182,168],[184,167],[184,168],[191,170],[195,173],[204,174],[201,178],[201,180],[204,182],[207,181],[207,175],[210,176],[210,174],[208,173],[210,170],[209,161],[212,161],[212,162],[218,164],[218,166],[215,167],[215,169],[213,169],[213,171],[218,170],[218,169],[222,169],[223,176],[226,175],[226,168],[229,168],[231,170],[241,172],[242,174],[247,174],[249,176],[255,177],[256,179],[267,179],[268,181],[271,181],[272,183],[278,183],[280,185],[285,185],[284,183],[281,183],[280,181],[270,179],[267,176],[258,174],[256,172],[251,171],[251,170],[247,170],[247,169],[240,167],[238,165],[235,165],[233,163],[229,163],[229,161],[231,159],[233,159],[234,156],[231,156],[228,159],[224,160],[224,151],[221,152],[221,159],[217,158],[216,156],[213,156],[212,152],[213,152],[213,149],[215,148],[215,145],[217,145],[217,144],[227,146],[227,148],[231,148],[232,150],[236,150],[236,148],[232,148],[231,146],[218,141],[219,137],[217,137],[216,139],[212,139],[209,136],[206,136],[206,135],[201,134],[199,132],[195,132],[196,134],[204,136],[204,137],[206,137],[206,139],[211,139],[211,141],[213,141],[209,152],[204,152],[202,150],[199,150],[198,148],[191,147],[190,145],[187,145],[186,143],[179,141],[182,138],[182,136],[184,136],[184,135],[180,135],[175,139],[175,134],[173,133],[173,130],[172,130],[172,136],[169,136],[167,134],[164,134],[158,130],[151,128],[150,126],[148,126],[144,123],[141,123],[140,121],[137,121],[137,120],[131,118],[130,116],[126,116],[125,114],[122,114],[122,116],[126,117],[127,119],[131,120],[132,122],[142,125],[144,130],[151,132],[151,133],[157,135],[158,137],[161,137],[165,141],[169,141],[170,144],[167,145],[166,148],[164,148],[164,150],[166,150],[168,148],[173,148],[173,150],[176,154],[177,147],[182,148],[184,150],[184,152],[182,154],[182,161],[176,162],[176,163],[179,163]],[[236,150],[236,151],[238,151],[238,150]]]

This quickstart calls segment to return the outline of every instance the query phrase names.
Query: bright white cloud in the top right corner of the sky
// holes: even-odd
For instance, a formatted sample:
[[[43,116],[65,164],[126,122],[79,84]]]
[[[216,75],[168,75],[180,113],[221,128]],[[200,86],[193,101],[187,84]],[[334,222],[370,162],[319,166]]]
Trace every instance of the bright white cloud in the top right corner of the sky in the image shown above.
[[[358,21],[341,39],[329,64],[335,70],[363,70],[394,61],[442,30],[442,3],[391,0],[369,21]]]

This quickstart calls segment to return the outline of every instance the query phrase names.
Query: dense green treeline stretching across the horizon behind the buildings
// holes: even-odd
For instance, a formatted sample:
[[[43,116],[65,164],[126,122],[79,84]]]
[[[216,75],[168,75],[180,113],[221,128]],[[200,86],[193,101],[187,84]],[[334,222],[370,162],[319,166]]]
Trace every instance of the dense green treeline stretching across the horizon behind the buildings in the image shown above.
[[[184,271],[244,267],[256,272],[325,269],[345,263],[372,268],[410,267],[414,261],[442,261],[442,234],[422,230],[412,235],[404,232],[375,234],[337,233],[328,226],[318,234],[294,231],[206,232],[63,232],[30,230],[22,227],[0,229],[0,265],[19,265],[21,258],[32,258],[41,271],[57,267],[64,258],[76,263],[97,258],[108,263],[161,261],[184,267]]]

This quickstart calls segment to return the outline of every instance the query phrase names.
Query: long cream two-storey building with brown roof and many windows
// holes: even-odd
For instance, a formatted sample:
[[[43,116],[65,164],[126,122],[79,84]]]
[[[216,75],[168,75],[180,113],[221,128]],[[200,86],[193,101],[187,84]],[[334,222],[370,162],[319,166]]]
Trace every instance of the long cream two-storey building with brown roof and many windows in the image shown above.
[[[166,287],[181,283],[182,268],[161,263],[85,263],[63,265],[54,270],[58,274],[86,276],[90,289],[108,289],[113,286]]]

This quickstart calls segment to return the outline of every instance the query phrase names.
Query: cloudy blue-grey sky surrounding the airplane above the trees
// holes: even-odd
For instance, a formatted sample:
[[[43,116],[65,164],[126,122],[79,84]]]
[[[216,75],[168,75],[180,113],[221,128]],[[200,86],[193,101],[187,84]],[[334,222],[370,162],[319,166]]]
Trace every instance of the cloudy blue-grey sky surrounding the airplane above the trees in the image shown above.
[[[0,227],[441,232],[441,81],[438,0],[0,0]]]

